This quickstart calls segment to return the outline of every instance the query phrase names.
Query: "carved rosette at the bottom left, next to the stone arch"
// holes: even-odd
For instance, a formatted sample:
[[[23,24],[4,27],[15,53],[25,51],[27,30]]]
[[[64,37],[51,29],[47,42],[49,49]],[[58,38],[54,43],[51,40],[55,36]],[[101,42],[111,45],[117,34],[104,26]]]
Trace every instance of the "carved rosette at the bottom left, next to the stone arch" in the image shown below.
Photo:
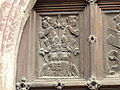
[[[27,82],[26,78],[22,78],[16,83],[17,90],[29,90],[31,83]]]

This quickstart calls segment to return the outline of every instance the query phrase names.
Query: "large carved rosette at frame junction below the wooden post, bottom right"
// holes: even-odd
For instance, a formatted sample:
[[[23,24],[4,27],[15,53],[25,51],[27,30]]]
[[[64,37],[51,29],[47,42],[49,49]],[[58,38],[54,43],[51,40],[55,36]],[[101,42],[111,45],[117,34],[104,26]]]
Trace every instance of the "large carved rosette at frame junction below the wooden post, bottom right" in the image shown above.
[[[96,78],[92,77],[88,80],[86,83],[89,89],[91,90],[98,90],[98,88],[101,86],[101,82],[96,80]]]

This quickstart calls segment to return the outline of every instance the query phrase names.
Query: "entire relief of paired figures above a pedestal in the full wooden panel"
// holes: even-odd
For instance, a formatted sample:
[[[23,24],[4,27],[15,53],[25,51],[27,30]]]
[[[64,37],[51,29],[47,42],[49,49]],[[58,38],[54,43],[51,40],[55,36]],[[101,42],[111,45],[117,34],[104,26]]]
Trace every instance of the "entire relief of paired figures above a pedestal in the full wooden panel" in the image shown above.
[[[68,16],[66,24],[58,15],[56,21],[52,17],[42,18],[42,32],[40,32],[40,55],[45,64],[41,76],[71,77],[78,76],[78,70],[72,60],[79,54],[76,40],[79,29],[76,29],[78,17]]]

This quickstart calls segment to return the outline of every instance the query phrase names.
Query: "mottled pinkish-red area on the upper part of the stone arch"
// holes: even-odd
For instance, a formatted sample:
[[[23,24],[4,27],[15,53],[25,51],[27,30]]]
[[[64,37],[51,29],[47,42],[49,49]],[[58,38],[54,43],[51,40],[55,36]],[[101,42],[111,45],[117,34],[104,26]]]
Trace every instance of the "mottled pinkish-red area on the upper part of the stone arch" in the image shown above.
[[[21,13],[23,13],[24,8],[26,8],[26,4],[28,2],[32,2],[32,0],[20,0],[17,2],[14,3],[11,10],[11,3],[8,2],[5,2],[0,9],[0,12],[2,12],[0,14],[0,28],[2,28],[2,30],[0,31],[0,37],[3,37],[2,40],[0,40],[0,43],[3,41],[1,45],[2,53],[8,52],[9,50],[12,50],[14,48],[14,44],[16,43],[16,36],[19,28],[21,27]]]

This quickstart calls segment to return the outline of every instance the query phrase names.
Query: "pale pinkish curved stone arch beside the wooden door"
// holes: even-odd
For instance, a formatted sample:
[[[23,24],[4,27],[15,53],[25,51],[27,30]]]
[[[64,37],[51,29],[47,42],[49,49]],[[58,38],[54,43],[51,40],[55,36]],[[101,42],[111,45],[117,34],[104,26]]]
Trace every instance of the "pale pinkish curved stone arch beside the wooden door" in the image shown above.
[[[22,30],[36,0],[0,0],[0,90],[15,90]]]

